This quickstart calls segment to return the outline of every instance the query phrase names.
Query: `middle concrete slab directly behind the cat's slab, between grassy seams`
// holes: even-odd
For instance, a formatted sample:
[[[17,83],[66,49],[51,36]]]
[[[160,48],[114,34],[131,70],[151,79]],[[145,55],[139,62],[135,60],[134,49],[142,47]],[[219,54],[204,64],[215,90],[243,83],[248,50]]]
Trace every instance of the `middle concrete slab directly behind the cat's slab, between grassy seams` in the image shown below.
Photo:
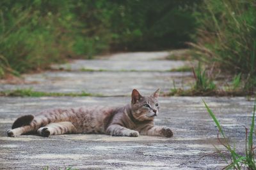
[[[151,94],[157,88],[168,92],[175,86],[188,88],[191,73],[171,72],[45,72],[24,76],[27,84],[2,84],[0,90],[29,89],[43,92],[90,92],[104,96],[129,96],[132,89]],[[28,83],[34,82],[34,83]],[[185,84],[186,82],[186,84]]]

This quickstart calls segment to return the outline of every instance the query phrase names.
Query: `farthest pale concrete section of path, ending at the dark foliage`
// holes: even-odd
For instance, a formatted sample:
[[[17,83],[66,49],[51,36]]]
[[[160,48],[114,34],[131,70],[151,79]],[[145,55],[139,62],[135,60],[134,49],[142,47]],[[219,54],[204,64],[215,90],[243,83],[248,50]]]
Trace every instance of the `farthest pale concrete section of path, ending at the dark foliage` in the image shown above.
[[[188,66],[189,62],[181,60],[164,60],[168,55],[185,53],[186,50],[170,52],[130,52],[99,56],[95,60],[72,60],[68,64],[54,65],[54,69],[108,70],[108,71],[170,71]]]

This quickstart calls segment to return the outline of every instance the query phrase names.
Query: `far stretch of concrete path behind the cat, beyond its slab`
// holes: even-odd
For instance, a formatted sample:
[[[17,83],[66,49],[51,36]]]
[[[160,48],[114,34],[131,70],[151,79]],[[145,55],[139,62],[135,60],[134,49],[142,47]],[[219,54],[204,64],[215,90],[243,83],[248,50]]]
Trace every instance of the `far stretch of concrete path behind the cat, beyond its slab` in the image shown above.
[[[164,60],[173,53],[180,54],[182,50],[120,53],[95,60],[73,60],[68,64],[52,66],[64,71],[24,74],[24,82],[3,82],[0,90],[32,88],[42,92],[85,91],[103,96],[130,96],[132,89],[149,94],[160,87],[162,92],[169,92],[173,81],[175,87],[188,89],[193,82],[192,74],[170,70],[191,64]]]

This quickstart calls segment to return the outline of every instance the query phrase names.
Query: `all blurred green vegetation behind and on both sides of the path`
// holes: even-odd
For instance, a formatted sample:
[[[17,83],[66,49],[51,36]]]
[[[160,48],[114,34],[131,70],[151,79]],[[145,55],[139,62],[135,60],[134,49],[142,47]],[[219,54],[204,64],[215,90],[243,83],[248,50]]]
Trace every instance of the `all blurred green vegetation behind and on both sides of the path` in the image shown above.
[[[256,85],[255,0],[2,0],[0,77],[106,52],[193,47]],[[248,85],[249,84],[249,85]]]

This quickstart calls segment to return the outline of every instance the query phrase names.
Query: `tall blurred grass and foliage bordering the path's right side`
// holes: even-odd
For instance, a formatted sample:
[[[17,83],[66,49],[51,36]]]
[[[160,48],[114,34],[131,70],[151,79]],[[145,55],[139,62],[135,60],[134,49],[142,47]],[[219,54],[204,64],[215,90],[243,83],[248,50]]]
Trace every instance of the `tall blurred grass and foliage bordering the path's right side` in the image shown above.
[[[256,86],[256,10],[254,0],[204,1],[195,13],[201,59],[222,71],[241,73],[244,90]]]

